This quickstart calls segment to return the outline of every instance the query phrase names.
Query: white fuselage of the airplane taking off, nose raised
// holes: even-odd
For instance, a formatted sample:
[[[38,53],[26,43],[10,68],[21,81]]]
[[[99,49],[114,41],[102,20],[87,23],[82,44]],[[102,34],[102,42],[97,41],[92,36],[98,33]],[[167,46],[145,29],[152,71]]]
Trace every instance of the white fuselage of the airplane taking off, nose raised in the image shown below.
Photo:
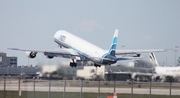
[[[64,30],[57,31],[54,40],[59,45],[73,49],[96,63],[101,63],[103,55],[107,53],[107,51]]]

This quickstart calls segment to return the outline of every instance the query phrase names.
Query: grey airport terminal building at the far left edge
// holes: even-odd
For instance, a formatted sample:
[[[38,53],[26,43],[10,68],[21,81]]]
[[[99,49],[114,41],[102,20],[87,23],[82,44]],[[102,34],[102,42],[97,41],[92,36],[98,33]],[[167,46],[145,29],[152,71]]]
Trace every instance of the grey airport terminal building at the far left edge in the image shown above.
[[[6,53],[0,52],[0,76],[37,76],[37,72],[40,71],[37,67],[17,66],[17,64],[17,57],[9,57]]]

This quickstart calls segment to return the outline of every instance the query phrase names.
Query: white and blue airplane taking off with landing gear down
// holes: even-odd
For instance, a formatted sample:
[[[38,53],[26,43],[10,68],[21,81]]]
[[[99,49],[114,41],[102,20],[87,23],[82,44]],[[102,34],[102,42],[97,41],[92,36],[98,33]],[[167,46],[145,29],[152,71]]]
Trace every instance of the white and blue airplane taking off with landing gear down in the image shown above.
[[[54,41],[61,47],[58,50],[29,50],[8,48],[9,50],[25,51],[27,57],[35,58],[37,53],[43,53],[47,58],[63,57],[72,59],[71,67],[76,67],[78,58],[94,62],[95,67],[111,65],[120,60],[131,60],[140,57],[141,53],[163,52],[169,49],[155,50],[118,50],[116,51],[118,30],[115,30],[109,50],[104,50],[82,38],[79,38],[65,30],[59,30],[54,35]],[[64,47],[64,48],[62,48]],[[128,56],[126,56],[128,55]],[[129,56],[130,55],[130,56]],[[117,57],[121,56],[121,57]]]

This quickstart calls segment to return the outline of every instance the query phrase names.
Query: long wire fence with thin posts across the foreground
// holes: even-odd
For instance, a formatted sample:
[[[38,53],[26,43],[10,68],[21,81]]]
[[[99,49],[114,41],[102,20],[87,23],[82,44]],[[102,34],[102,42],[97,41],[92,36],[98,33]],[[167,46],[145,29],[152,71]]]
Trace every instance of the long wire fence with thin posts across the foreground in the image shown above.
[[[118,98],[179,98],[179,88],[172,82],[0,78],[0,98],[108,98],[114,93]]]

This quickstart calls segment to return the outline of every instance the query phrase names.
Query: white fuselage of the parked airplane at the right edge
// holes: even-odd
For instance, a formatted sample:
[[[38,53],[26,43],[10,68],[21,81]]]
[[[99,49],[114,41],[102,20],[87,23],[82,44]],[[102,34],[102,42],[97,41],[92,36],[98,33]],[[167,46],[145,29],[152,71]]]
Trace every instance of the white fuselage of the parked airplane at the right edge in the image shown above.
[[[155,72],[162,76],[180,77],[180,67],[155,67]]]

